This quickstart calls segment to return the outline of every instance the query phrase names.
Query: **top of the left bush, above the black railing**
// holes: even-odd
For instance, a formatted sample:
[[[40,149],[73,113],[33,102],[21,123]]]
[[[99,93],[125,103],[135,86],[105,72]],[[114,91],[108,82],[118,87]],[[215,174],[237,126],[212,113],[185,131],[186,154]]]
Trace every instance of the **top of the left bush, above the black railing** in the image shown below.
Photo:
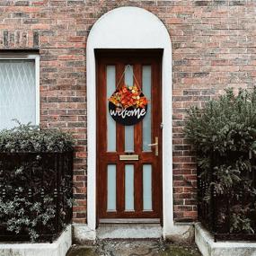
[[[65,152],[72,150],[71,135],[31,124],[0,130],[0,152]]]

